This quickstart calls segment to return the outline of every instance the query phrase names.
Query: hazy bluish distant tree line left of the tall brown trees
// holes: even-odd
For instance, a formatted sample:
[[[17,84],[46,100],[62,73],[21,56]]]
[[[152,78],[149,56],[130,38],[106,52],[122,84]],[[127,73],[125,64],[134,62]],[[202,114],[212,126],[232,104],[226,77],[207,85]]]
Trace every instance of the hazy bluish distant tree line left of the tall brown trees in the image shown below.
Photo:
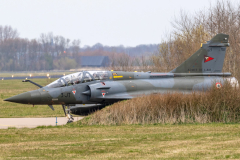
[[[136,56],[156,51],[157,47],[158,45],[111,47],[97,43],[80,48],[79,39],[71,41],[53,33],[42,33],[36,39],[21,38],[17,29],[0,25],[0,71],[73,69],[81,67],[81,56]]]

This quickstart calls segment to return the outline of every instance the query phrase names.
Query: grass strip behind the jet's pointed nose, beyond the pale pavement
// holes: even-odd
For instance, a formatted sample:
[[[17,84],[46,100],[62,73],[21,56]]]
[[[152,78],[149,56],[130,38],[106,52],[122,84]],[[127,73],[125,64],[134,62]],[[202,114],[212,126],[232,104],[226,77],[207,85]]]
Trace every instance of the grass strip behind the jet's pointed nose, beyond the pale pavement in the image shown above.
[[[54,80],[56,79],[34,79],[34,82],[45,86]],[[0,118],[64,116],[61,105],[55,105],[55,111],[52,111],[47,105],[35,105],[33,107],[32,105],[3,101],[6,98],[35,89],[38,89],[38,87],[21,80],[0,81]]]

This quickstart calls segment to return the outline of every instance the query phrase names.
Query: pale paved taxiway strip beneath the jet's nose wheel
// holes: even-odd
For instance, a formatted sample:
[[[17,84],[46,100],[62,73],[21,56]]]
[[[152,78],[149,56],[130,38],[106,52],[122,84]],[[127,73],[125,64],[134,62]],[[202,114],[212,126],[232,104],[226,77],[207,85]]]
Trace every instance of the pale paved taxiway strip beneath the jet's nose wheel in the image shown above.
[[[83,117],[74,117],[74,121],[83,119]],[[57,125],[64,125],[67,123],[66,117],[57,117]],[[35,128],[37,126],[55,126],[56,117],[51,118],[0,118],[0,129],[7,129],[9,127],[16,128]]]

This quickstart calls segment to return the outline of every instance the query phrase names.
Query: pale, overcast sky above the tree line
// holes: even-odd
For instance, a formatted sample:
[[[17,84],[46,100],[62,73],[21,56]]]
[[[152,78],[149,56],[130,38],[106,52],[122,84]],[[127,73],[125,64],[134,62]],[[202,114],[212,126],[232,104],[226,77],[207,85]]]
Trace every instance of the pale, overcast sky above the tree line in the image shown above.
[[[81,47],[159,44],[180,10],[208,8],[210,0],[0,0],[0,25],[22,38],[52,32]]]

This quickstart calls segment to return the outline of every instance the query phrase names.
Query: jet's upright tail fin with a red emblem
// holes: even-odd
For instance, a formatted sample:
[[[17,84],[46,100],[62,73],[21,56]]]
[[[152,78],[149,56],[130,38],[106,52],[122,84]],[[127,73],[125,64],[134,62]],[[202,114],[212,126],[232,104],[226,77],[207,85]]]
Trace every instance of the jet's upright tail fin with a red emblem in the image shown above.
[[[171,73],[220,73],[229,35],[217,34]]]

